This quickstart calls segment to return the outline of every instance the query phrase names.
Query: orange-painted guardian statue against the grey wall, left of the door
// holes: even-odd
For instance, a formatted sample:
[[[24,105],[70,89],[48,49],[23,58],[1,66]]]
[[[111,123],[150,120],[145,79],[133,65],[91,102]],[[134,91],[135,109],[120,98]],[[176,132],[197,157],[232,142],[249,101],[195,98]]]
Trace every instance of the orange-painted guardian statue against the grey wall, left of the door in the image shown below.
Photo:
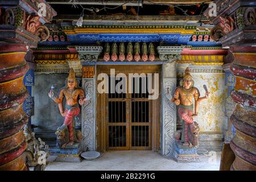
[[[72,146],[74,142],[82,139],[81,131],[75,130],[75,119],[80,113],[79,105],[83,105],[89,100],[89,94],[85,97],[84,90],[79,88],[79,82],[75,77],[73,68],[69,70],[69,76],[64,88],[60,89],[59,95],[54,96],[53,90],[48,93],[49,97],[59,105],[60,114],[65,117],[64,123],[57,131],[57,146],[65,148]],[[63,108],[63,98],[66,99],[65,110]],[[80,99],[79,99],[80,98]]]

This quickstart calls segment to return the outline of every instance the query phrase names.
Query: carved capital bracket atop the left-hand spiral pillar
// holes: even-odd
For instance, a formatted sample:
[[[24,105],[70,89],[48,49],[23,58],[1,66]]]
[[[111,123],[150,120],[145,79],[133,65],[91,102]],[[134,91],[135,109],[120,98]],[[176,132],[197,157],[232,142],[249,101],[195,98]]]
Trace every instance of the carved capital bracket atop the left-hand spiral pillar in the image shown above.
[[[39,4],[46,5],[46,15],[39,13]],[[49,11],[51,9],[51,11]],[[49,37],[49,30],[44,23],[49,22],[56,12],[45,1],[12,1],[0,2],[0,30],[4,34],[1,39],[25,43],[28,46],[36,47],[38,42],[43,42]]]

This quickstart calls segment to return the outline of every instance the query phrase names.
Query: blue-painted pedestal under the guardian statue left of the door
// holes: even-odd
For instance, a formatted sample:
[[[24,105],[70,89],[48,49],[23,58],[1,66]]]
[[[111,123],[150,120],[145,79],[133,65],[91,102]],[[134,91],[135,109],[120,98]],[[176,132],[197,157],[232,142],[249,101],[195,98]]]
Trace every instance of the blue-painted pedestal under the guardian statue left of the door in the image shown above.
[[[66,148],[52,148],[51,153],[57,155],[56,162],[81,162],[82,148],[80,143],[75,143]]]

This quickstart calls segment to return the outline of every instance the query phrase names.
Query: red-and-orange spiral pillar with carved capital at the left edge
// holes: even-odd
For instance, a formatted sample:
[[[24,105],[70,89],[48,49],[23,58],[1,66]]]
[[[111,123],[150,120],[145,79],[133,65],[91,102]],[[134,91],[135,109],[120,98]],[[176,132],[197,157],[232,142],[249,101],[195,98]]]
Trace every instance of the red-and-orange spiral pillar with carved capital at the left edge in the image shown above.
[[[56,12],[46,4],[45,17],[38,16],[44,1],[0,1],[0,170],[26,170],[22,154],[27,143],[23,127],[27,115],[23,102],[28,96],[23,84],[29,47],[46,40],[49,31],[40,22],[49,22]],[[35,15],[31,15],[34,13]]]

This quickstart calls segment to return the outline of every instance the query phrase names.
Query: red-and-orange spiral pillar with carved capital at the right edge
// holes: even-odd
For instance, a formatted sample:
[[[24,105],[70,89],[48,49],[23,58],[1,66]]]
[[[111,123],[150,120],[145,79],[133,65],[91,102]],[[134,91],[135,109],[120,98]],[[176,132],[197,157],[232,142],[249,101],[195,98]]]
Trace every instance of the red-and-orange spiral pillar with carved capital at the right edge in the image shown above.
[[[236,77],[236,85],[231,92],[231,97],[236,102],[236,109],[230,121],[236,128],[236,135],[231,140],[230,147],[236,159],[230,169],[255,171],[256,2],[241,0],[214,2],[219,8],[217,17],[210,18],[216,25],[211,32],[212,38],[220,41],[222,46],[229,46],[234,55],[230,71]]]

